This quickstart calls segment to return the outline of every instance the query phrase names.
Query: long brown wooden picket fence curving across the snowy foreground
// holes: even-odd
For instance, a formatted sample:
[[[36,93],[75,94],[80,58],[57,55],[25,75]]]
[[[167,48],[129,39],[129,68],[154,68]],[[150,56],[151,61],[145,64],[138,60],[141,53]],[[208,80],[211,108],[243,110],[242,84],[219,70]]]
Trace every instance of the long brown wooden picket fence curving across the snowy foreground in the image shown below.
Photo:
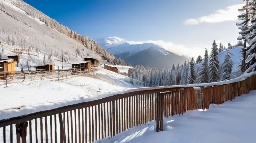
[[[139,91],[1,120],[0,139],[2,135],[3,143],[93,142],[153,120],[156,120],[158,132],[163,130],[166,117],[208,108],[212,103],[222,104],[254,89],[256,75],[226,85],[201,87],[196,91],[187,86],[141,88]]]

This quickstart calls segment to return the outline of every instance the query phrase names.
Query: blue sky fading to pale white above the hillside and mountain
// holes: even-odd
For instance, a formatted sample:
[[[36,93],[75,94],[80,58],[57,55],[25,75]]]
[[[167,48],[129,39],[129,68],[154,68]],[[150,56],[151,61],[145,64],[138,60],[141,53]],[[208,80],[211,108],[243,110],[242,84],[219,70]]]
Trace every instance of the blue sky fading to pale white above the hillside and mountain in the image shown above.
[[[244,3],[242,0],[24,1],[92,39],[116,36],[129,41],[161,40],[194,50],[210,48],[214,39],[226,46],[228,42],[236,44],[239,30],[234,15],[232,19],[224,12],[224,16],[223,13],[217,15],[217,22],[216,16],[213,16],[214,22],[211,18],[198,22],[197,18]],[[234,12],[230,10],[229,13]],[[185,23],[191,18],[194,19]]]

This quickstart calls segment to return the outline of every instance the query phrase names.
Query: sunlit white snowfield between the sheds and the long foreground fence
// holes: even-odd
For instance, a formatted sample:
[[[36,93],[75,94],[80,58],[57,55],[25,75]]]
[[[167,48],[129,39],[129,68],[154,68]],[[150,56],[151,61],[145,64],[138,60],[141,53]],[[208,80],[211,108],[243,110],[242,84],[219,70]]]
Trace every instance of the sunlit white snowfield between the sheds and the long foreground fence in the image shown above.
[[[0,110],[140,87],[132,85],[130,80],[126,76],[101,69],[57,82],[27,81],[8,84],[6,88],[3,85],[0,86]]]

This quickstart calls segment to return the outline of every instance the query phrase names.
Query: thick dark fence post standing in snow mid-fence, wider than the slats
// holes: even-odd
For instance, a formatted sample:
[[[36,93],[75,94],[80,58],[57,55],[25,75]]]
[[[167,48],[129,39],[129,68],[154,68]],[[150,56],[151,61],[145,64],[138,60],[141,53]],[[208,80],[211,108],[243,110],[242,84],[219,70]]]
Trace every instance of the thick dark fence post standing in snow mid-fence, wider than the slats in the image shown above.
[[[159,132],[164,127],[164,93],[157,93],[156,102],[156,132]]]

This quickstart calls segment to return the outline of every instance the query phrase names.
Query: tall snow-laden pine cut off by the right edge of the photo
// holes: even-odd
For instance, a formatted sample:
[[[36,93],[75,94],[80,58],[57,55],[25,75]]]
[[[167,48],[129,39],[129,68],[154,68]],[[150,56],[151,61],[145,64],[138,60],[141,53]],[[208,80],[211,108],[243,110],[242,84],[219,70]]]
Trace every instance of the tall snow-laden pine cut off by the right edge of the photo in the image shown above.
[[[248,26],[250,29],[249,34],[246,36],[248,38],[249,46],[246,48],[247,58],[245,60],[246,73],[256,71],[256,0],[248,1],[247,10],[251,25]]]

